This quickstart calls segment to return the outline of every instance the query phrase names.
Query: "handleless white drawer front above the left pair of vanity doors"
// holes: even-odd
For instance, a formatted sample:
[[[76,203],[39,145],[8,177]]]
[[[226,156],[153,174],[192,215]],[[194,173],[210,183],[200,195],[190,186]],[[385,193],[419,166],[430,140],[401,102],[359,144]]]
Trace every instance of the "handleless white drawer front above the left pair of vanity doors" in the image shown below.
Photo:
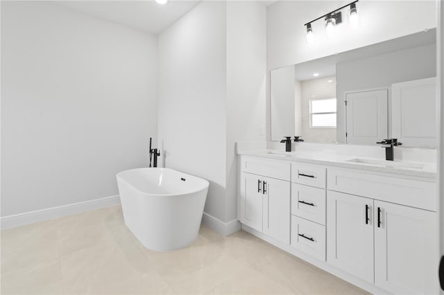
[[[242,157],[241,171],[290,181],[291,164],[275,160]]]

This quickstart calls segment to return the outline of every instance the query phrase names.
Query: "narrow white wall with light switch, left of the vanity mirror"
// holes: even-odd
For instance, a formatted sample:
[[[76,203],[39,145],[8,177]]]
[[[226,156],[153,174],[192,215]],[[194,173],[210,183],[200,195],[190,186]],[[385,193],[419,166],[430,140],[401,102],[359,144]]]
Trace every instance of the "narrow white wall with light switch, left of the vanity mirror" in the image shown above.
[[[228,1],[225,221],[237,217],[237,157],[234,143],[265,140],[265,83],[266,7],[257,1]],[[263,134],[260,134],[261,126]]]

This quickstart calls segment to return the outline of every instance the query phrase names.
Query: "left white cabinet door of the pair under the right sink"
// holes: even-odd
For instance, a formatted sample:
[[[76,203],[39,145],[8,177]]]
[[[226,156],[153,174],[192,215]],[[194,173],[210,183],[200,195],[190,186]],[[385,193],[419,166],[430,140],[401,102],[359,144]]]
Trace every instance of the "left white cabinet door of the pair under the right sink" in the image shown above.
[[[373,199],[327,192],[327,262],[373,283]]]

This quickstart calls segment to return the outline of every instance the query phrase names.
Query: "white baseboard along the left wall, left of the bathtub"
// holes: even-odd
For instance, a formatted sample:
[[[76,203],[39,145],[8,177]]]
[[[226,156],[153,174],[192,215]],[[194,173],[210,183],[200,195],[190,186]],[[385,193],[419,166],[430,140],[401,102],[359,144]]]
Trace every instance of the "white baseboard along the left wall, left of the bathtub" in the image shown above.
[[[0,224],[1,229],[9,229],[15,226],[41,222],[44,220],[52,220],[58,217],[97,210],[117,204],[120,204],[119,195],[102,197],[100,199],[92,199],[85,202],[67,204],[63,206],[4,216],[0,218]]]

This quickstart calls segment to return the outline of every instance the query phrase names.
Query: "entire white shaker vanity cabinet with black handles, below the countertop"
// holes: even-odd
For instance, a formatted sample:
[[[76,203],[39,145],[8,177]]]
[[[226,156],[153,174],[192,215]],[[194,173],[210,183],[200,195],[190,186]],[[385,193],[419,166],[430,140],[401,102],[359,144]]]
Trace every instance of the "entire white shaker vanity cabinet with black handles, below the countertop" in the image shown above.
[[[239,165],[246,231],[370,292],[438,293],[433,179],[249,156]]]

